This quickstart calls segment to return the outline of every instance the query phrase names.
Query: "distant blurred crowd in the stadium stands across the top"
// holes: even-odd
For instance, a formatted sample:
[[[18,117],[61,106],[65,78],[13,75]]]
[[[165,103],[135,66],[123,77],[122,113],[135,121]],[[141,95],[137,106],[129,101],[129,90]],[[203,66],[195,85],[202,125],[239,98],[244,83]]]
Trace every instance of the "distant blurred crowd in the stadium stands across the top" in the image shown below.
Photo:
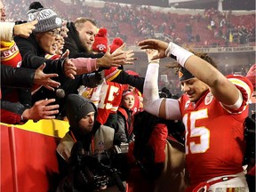
[[[8,1],[10,20],[24,20],[28,3]],[[44,2],[44,1],[43,1]],[[77,16],[92,17],[101,27],[109,28],[109,38],[119,35],[128,45],[145,37],[157,37],[177,44],[193,46],[235,46],[255,44],[255,13],[235,15],[231,11],[204,10],[198,14],[154,11],[150,6],[104,3],[103,7],[87,6],[81,1],[64,4],[60,0],[49,3],[65,20]],[[78,5],[79,4],[79,5]],[[68,10],[68,12],[62,12]]]

